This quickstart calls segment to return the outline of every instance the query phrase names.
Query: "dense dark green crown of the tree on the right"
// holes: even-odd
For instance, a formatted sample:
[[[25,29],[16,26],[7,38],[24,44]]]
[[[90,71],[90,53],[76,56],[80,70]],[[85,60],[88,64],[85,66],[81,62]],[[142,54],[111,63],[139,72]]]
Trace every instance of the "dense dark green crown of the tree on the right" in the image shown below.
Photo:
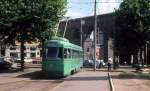
[[[150,0],[124,0],[116,10],[115,48],[120,55],[137,54],[150,32]]]

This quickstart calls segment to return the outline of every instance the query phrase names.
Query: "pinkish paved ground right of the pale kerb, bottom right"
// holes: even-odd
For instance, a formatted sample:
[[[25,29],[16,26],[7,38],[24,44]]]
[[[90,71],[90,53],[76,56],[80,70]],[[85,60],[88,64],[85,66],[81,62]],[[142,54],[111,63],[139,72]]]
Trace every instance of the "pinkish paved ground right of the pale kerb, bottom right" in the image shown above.
[[[120,78],[118,75],[123,72],[134,72],[135,68],[126,67],[112,71],[112,81],[115,91],[150,91],[150,80],[140,78]]]

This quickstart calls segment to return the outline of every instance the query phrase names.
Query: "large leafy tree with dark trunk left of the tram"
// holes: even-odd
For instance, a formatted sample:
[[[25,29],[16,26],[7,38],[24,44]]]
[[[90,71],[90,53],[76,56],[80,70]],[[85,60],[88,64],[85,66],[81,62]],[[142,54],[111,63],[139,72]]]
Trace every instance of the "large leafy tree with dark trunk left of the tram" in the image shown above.
[[[21,43],[21,69],[24,69],[24,43],[44,39],[65,14],[67,0],[0,0],[0,39],[5,44]]]

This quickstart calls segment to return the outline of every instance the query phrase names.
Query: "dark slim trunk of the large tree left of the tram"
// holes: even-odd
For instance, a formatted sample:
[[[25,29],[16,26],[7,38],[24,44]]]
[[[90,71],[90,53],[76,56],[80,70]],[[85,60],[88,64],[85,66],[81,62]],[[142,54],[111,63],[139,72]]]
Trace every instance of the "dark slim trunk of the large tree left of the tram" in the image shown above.
[[[20,45],[20,53],[21,53],[21,71],[24,71],[24,41],[21,40]]]

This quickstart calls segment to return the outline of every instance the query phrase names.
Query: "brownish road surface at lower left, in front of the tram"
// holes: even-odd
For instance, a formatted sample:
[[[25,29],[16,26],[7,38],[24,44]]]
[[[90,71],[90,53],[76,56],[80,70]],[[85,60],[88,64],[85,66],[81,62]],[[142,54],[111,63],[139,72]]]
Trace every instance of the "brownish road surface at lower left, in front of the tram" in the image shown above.
[[[40,68],[0,72],[0,91],[50,91],[61,82],[60,79],[44,77]]]

